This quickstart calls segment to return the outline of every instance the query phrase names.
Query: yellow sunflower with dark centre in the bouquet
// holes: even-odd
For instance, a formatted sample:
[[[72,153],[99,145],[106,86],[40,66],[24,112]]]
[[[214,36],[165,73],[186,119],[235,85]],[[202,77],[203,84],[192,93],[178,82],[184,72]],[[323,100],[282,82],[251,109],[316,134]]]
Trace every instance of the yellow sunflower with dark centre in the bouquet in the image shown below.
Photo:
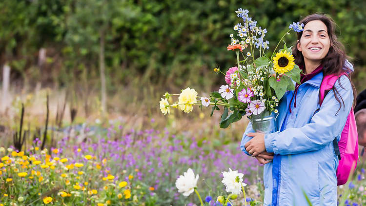
[[[273,57],[273,64],[275,72],[278,74],[283,74],[291,71],[294,68],[294,57],[287,51],[281,51],[276,53],[276,56]]]

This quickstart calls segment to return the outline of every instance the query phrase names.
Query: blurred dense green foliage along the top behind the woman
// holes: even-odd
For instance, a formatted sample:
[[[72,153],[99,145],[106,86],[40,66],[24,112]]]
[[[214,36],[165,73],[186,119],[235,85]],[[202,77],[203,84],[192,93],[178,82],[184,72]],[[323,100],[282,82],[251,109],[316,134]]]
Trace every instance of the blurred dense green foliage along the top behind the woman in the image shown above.
[[[9,62],[13,73],[29,82],[98,81],[103,35],[109,91],[136,76],[162,85],[212,85],[219,79],[209,73],[215,66],[235,63],[226,45],[240,21],[237,8],[248,9],[267,28],[270,49],[290,23],[324,12],[337,22],[347,54],[355,58],[356,86],[364,89],[365,5],[363,0],[5,0],[0,2],[1,64]],[[294,42],[295,35],[286,38]],[[34,69],[41,47],[47,48],[48,75]]]

